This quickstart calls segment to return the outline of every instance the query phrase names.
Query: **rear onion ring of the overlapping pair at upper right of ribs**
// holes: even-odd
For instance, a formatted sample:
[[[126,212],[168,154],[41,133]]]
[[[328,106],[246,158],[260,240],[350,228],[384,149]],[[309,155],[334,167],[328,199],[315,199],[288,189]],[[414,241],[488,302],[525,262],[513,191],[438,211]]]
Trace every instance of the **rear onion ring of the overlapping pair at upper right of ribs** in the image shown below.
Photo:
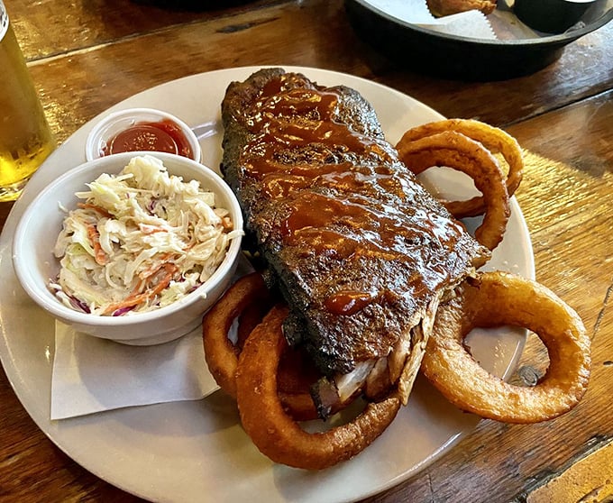
[[[487,123],[471,119],[446,119],[434,123],[425,123],[409,129],[402,136],[396,148],[398,152],[402,152],[410,142],[445,131],[462,133],[472,140],[480,142],[489,151],[500,152],[508,164],[506,182],[508,197],[515,194],[524,176],[524,157],[521,147],[513,136]],[[400,159],[402,159],[402,153],[400,153]],[[407,165],[407,167],[414,169],[410,165]],[[419,173],[421,171],[416,170],[414,172]],[[456,218],[482,215],[486,208],[485,201],[480,196],[472,197],[466,201],[447,201],[445,206]]]

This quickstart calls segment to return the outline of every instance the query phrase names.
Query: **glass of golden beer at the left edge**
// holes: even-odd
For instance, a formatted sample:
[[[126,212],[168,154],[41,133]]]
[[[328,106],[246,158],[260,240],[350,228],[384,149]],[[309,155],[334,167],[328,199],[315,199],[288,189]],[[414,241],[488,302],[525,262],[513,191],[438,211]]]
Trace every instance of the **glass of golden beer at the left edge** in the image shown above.
[[[0,201],[19,197],[56,142],[0,0]]]

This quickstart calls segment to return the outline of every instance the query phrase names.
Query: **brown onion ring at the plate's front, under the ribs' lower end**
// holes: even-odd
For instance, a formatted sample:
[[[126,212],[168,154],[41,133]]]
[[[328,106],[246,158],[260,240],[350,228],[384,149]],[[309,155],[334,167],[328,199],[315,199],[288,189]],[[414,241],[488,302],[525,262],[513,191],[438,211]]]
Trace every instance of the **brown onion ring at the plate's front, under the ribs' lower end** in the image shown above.
[[[369,404],[350,423],[323,433],[307,433],[285,412],[277,394],[277,369],[287,344],[285,306],[275,306],[252,332],[239,357],[237,403],[242,426],[273,462],[320,470],[352,458],[392,422],[400,400],[390,396]]]

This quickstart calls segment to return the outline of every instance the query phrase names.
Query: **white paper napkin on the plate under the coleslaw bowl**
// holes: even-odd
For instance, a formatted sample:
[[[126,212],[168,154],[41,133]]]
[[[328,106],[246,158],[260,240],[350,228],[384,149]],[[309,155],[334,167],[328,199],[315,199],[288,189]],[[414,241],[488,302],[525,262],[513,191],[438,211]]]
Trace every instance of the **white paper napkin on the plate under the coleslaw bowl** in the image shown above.
[[[78,334],[56,322],[51,419],[198,400],[217,389],[206,367],[199,326],[170,343],[129,346]]]

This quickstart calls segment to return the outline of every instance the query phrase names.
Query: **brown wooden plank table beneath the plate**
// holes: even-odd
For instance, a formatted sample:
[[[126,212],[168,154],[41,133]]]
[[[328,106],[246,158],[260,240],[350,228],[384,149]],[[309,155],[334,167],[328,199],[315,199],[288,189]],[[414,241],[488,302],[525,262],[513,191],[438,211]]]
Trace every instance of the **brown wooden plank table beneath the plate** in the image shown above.
[[[536,278],[585,322],[593,341],[590,388],[578,407],[554,421],[481,421],[439,461],[369,501],[610,498],[613,23],[572,43],[534,75],[467,83],[394,66],[356,37],[341,0],[202,2],[210,6],[200,10],[120,0],[5,4],[59,142],[149,87],[213,69],[270,64],[369,78],[446,116],[477,118],[515,135],[526,149],[517,200],[532,236]],[[0,225],[10,207],[0,206]],[[514,379],[542,372],[546,361],[530,336]],[[4,373],[0,404],[0,499],[136,500],[61,453],[24,411]]]

